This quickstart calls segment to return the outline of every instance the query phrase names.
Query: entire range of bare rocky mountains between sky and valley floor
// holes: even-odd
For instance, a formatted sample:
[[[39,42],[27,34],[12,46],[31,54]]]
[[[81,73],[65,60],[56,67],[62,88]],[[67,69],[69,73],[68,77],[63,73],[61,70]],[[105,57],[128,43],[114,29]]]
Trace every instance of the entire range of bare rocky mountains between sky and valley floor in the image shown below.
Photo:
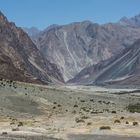
[[[31,39],[2,13],[0,17],[1,59],[6,57],[19,80],[84,85],[140,83],[140,15],[104,25],[83,21],[51,25],[43,31],[22,28]],[[4,69],[3,77],[8,70]]]

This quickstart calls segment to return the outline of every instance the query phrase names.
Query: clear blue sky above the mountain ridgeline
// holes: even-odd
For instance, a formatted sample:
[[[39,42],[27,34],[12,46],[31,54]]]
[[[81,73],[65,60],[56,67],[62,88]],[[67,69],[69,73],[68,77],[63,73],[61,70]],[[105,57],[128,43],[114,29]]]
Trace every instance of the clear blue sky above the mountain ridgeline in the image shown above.
[[[83,20],[116,22],[139,14],[140,0],[0,0],[0,10],[18,26],[44,29]]]

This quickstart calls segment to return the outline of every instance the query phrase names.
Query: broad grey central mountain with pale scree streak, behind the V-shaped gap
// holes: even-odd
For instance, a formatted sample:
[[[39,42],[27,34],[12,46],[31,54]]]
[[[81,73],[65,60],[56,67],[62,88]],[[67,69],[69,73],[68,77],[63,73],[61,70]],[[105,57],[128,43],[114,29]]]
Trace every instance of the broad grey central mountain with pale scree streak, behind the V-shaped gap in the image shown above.
[[[42,55],[56,64],[64,80],[68,81],[84,68],[119,54],[139,37],[140,27],[83,21],[52,26],[41,32],[35,43]]]

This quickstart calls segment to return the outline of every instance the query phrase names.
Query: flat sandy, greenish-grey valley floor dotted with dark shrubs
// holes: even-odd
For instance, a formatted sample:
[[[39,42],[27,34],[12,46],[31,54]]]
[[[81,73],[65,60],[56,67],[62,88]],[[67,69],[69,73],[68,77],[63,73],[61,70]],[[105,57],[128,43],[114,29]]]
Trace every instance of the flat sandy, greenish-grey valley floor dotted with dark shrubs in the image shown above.
[[[2,80],[0,139],[138,140],[139,103],[139,90]]]

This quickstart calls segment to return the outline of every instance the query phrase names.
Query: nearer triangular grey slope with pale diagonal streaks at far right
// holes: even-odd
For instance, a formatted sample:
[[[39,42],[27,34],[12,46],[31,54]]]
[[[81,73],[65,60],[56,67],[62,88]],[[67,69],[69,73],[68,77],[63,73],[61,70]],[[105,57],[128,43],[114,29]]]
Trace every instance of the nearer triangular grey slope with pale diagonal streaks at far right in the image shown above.
[[[140,39],[125,53],[113,61],[109,67],[96,78],[95,83],[117,83],[139,85],[140,80]]]

